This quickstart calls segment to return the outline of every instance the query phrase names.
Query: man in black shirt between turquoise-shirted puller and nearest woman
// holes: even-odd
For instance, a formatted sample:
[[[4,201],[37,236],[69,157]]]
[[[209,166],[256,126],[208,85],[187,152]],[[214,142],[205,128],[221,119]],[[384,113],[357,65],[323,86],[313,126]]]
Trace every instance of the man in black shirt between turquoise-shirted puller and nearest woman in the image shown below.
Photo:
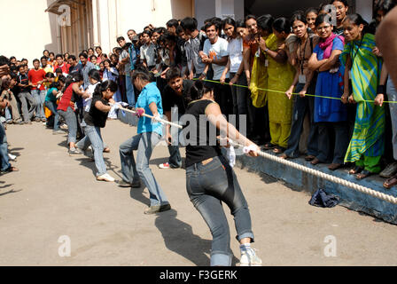
[[[181,116],[185,113],[188,105],[186,97],[193,82],[184,80],[181,70],[171,67],[166,75],[167,85],[162,92],[164,114],[169,122],[178,123]],[[176,130],[173,128],[172,130]],[[182,158],[179,152],[179,130],[170,132],[170,126],[166,125],[166,140],[168,143],[169,159],[168,162],[161,163],[160,169],[177,169],[182,166]]]

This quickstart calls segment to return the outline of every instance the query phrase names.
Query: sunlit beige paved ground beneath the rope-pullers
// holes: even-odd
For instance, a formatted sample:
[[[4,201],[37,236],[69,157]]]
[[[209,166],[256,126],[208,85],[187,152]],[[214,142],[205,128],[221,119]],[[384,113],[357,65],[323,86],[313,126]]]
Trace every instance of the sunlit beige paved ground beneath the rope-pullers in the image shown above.
[[[118,121],[103,131],[113,177],[120,178],[118,146],[135,132]],[[167,147],[155,149],[151,168],[173,209],[146,216],[147,189],[97,182],[93,162],[68,156],[66,136],[53,136],[35,123],[9,126],[7,137],[20,171],[0,177],[0,265],[209,264],[211,235],[188,199],[184,170],[156,166],[167,162]],[[312,207],[307,193],[236,171],[252,213],[254,247],[265,265],[397,264],[397,226],[340,206]],[[229,221],[238,258],[233,218]],[[58,239],[65,235],[71,256],[60,257],[66,242]],[[336,256],[326,256],[330,247]]]

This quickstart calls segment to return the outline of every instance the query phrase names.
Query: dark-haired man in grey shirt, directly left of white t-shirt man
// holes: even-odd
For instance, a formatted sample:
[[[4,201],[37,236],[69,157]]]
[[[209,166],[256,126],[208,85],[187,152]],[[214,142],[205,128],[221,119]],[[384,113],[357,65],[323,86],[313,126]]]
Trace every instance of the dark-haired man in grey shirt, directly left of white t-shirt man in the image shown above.
[[[202,36],[197,29],[197,20],[187,17],[181,22],[184,34],[189,36],[189,41],[185,43],[185,52],[188,65],[189,79],[199,78],[204,72],[206,64],[201,60],[200,51],[204,48],[206,37]],[[196,72],[194,72],[194,70]]]

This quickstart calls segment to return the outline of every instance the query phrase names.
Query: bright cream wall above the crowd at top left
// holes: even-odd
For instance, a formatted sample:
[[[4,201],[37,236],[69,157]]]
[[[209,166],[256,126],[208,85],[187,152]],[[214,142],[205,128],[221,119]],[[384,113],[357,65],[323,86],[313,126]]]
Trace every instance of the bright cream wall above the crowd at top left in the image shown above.
[[[47,0],[0,0],[1,55],[26,58],[32,67],[33,59],[40,59],[44,49],[58,52],[58,22],[56,15],[44,12],[47,7]]]

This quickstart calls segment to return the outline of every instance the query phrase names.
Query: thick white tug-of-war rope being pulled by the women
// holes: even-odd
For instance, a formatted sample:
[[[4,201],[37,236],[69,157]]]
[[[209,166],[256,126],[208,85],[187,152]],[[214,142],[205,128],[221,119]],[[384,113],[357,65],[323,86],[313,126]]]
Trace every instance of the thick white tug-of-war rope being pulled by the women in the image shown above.
[[[130,110],[128,108],[124,108],[122,106],[120,107],[120,109],[123,110],[123,111],[129,112],[129,113],[132,113],[132,114],[136,114],[136,111]],[[154,116],[149,115],[149,114],[142,114],[142,116],[146,116],[146,117],[149,117],[149,118],[154,118]],[[175,127],[179,128],[179,129],[183,128],[182,125],[179,125],[179,124],[176,124],[176,123],[173,123],[173,122],[168,122],[168,121],[163,120],[163,119],[159,119],[159,121],[163,122],[163,123],[167,123],[167,124],[169,124],[171,126],[175,126]],[[236,144],[234,142],[231,142],[230,144],[232,146],[240,146],[241,147],[241,145],[238,145],[238,144]],[[307,168],[307,167],[305,167],[303,165],[300,165],[299,163],[291,162],[291,161],[288,161],[288,160],[285,160],[285,159],[281,159],[281,158],[279,158],[279,157],[277,157],[275,155],[267,154],[267,153],[264,153],[264,152],[262,152],[260,150],[258,150],[257,153],[261,157],[266,158],[266,159],[268,159],[270,161],[282,163],[282,164],[284,164],[284,165],[286,165],[288,167],[292,167],[294,169],[307,172],[308,174],[313,175],[315,177],[321,177],[321,178],[329,180],[329,181],[331,181],[331,182],[333,182],[335,184],[339,184],[339,185],[343,185],[343,186],[346,186],[346,187],[350,187],[350,188],[353,188],[354,190],[359,191],[361,193],[369,194],[369,195],[374,196],[374,197],[376,197],[376,198],[378,198],[380,200],[387,201],[387,202],[390,202],[390,203],[393,203],[393,204],[397,204],[397,198],[394,197],[393,195],[377,192],[377,191],[375,191],[373,189],[370,189],[369,187],[365,187],[365,186],[362,186],[362,185],[354,184],[354,183],[352,183],[352,182],[350,182],[350,181],[348,181],[346,179],[331,176],[331,175],[326,174],[326,173],[324,173],[324,172],[322,172],[320,170],[314,170],[314,169]]]

